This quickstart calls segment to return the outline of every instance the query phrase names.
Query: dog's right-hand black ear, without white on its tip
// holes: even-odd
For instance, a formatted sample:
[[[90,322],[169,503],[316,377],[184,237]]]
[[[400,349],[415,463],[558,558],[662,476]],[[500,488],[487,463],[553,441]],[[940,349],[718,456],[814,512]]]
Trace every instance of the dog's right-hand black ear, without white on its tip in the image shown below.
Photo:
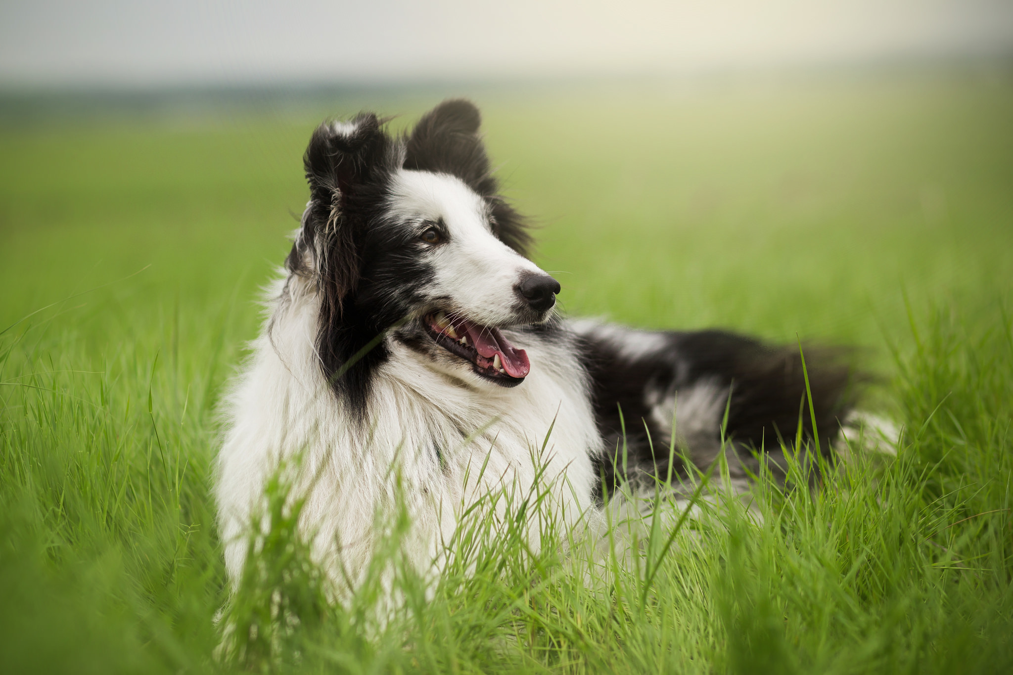
[[[526,255],[531,244],[524,219],[499,194],[478,129],[482,116],[471,101],[449,99],[422,115],[407,138],[404,168],[447,173],[485,198],[499,239]]]

